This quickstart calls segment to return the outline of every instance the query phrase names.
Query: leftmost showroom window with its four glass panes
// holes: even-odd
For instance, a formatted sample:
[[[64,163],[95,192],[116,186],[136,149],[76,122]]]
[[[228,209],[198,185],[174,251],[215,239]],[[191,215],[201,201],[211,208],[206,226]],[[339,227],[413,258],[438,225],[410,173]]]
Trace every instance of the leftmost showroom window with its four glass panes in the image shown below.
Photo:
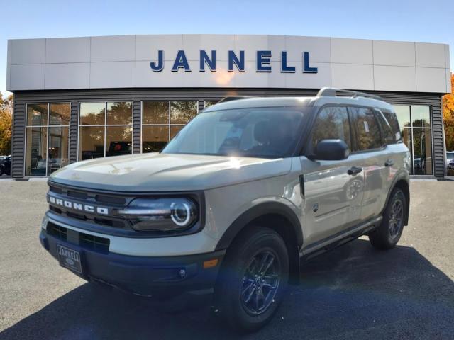
[[[68,164],[70,112],[70,103],[27,104],[26,176],[46,176]]]

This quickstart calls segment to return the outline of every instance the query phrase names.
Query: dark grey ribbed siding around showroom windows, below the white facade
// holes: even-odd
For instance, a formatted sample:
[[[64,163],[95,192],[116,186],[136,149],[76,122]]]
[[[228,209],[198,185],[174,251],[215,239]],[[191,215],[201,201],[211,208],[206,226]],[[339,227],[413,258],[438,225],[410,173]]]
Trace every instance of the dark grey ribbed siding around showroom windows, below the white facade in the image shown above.
[[[199,112],[204,101],[219,101],[226,96],[314,96],[318,89],[89,89],[70,91],[16,91],[13,114],[12,176],[23,177],[25,150],[26,103],[71,103],[70,162],[77,160],[78,103],[80,101],[133,101],[133,153],[140,152],[141,101],[199,101]],[[428,105],[432,113],[434,175],[444,176],[445,158],[441,94],[412,92],[370,91],[392,104]]]

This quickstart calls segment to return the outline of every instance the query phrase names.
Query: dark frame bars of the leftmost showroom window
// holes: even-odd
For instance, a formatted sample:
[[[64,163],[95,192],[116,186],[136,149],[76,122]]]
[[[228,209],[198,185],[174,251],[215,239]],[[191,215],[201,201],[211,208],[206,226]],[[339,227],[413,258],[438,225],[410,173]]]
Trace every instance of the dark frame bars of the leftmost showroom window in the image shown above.
[[[47,105],[47,125],[28,125],[28,106],[29,105]],[[49,125],[50,122],[50,104],[68,104],[70,106],[70,119],[68,120],[67,125]],[[68,128],[68,164],[70,160],[70,140],[71,140],[71,102],[70,101],[48,101],[48,102],[35,102],[35,103],[26,103],[26,117],[25,117],[25,125],[24,125],[24,145],[23,145],[23,176],[24,177],[48,177],[48,167],[49,167],[49,128]],[[45,150],[46,150],[46,157],[45,157],[45,175],[27,175],[27,129],[28,128],[45,128],[46,129],[46,141],[45,141]],[[61,167],[60,167],[61,169]]]

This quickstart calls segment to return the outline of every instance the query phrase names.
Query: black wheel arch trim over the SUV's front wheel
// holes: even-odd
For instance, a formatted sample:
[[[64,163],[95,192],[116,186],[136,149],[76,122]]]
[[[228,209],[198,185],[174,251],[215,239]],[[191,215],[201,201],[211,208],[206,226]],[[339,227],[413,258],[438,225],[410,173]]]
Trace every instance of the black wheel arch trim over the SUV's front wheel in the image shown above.
[[[223,234],[216,251],[228,249],[245,230],[256,227],[269,227],[284,239],[289,253],[290,283],[298,283],[299,249],[304,237],[297,215],[283,203],[261,203],[243,212]]]

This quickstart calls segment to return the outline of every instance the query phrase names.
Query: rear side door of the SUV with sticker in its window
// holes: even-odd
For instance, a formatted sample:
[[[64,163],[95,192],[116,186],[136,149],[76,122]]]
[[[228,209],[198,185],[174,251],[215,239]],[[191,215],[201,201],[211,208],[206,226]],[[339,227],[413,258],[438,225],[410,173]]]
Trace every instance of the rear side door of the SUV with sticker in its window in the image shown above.
[[[384,132],[373,108],[351,107],[353,127],[356,133],[360,166],[364,172],[364,198],[362,200],[361,220],[379,215],[387,198],[389,189],[390,157]]]

